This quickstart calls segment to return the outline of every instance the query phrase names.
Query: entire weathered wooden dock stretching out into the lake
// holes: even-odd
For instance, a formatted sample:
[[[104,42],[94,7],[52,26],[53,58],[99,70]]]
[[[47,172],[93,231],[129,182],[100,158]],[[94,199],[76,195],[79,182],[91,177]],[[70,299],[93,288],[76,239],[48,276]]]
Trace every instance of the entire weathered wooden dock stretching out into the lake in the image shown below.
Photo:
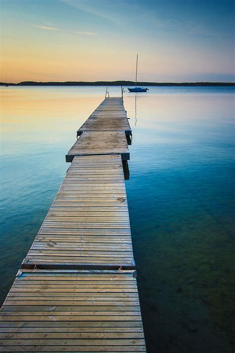
[[[121,130],[120,98],[89,119],[106,130],[80,128],[66,155],[71,165],[0,310],[0,352],[146,352],[122,167],[131,130]]]

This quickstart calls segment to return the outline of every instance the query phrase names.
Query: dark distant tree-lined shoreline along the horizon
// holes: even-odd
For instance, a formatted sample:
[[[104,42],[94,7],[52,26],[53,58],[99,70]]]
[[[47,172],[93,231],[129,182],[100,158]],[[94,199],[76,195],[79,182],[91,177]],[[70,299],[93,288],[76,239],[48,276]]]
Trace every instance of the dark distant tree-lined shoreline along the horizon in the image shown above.
[[[135,86],[133,81],[67,81],[67,82],[36,82],[23,81],[18,83],[0,82],[0,86]],[[137,82],[138,86],[235,86],[235,82]]]

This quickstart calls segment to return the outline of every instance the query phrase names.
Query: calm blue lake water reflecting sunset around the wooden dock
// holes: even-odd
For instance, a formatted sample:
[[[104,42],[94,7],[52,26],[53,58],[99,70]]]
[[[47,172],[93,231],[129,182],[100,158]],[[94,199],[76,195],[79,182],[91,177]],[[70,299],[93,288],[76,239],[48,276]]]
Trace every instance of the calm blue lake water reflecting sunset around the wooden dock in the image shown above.
[[[109,87],[120,95],[119,87]],[[148,352],[235,346],[234,88],[128,93],[126,181]],[[105,87],[0,87],[1,302]]]

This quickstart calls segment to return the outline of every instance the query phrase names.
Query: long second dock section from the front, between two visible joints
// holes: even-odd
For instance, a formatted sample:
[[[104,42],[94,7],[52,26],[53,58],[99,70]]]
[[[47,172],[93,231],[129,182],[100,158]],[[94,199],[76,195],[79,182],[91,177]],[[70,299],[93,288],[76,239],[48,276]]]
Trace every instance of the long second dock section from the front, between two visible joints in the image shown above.
[[[107,173],[118,175],[118,180],[111,178],[107,182]],[[86,180],[77,180],[81,174]],[[97,181],[97,175],[101,180]],[[22,264],[27,269],[35,266],[43,269],[78,269],[81,266],[134,269],[119,154],[73,158]]]

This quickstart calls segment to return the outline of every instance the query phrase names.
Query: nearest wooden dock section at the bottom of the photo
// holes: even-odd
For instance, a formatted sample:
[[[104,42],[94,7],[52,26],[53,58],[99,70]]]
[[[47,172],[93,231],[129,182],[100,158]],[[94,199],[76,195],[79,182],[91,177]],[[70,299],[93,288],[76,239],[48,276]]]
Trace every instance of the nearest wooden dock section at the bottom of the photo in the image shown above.
[[[0,352],[146,352],[134,273],[20,270],[0,310]],[[100,279],[116,288],[112,297],[101,291]],[[32,281],[43,300],[39,291],[32,295]],[[55,282],[66,286],[66,296]],[[70,282],[83,283],[77,300]],[[129,283],[130,292],[123,292],[123,283]]]

